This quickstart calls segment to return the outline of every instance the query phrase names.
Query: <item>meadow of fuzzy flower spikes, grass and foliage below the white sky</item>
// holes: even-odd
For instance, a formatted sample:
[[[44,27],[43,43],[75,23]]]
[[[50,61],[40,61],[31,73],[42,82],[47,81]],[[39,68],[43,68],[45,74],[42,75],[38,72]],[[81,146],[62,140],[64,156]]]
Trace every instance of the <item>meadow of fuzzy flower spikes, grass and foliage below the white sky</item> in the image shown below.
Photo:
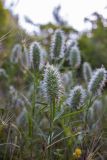
[[[73,40],[77,32],[60,23],[41,25],[43,36],[18,26],[18,41],[0,31],[0,160],[107,158],[106,49],[97,52],[105,43],[97,45],[99,27]],[[102,65],[88,55],[94,51]]]

